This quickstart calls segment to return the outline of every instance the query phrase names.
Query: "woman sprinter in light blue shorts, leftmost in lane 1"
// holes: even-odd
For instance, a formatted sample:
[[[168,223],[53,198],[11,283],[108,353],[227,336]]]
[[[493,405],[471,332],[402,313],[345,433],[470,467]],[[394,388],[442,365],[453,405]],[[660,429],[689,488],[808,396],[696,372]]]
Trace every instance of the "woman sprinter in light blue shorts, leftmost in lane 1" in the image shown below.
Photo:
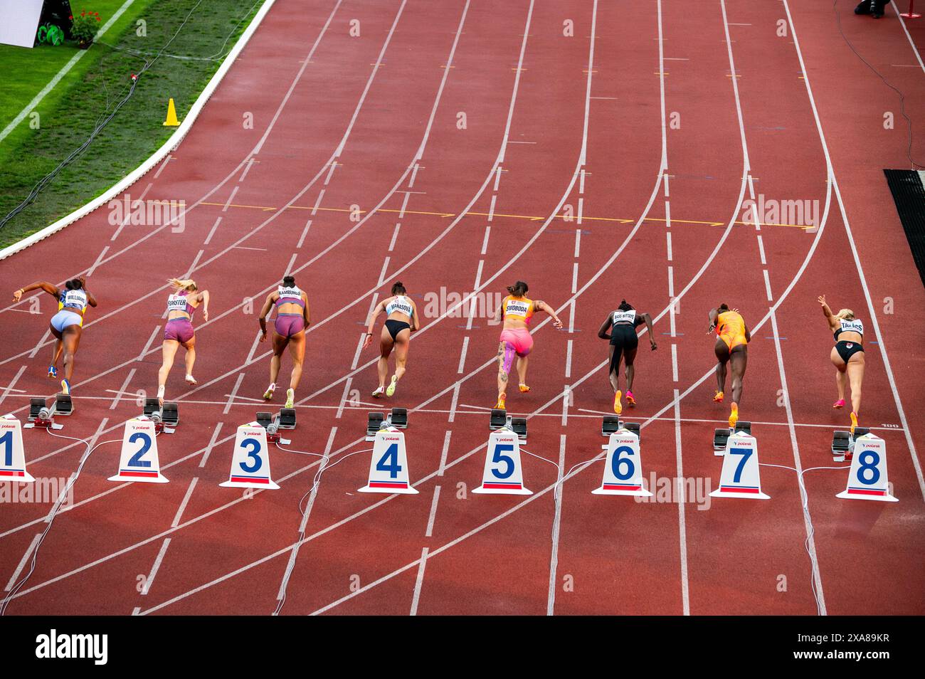
[[[74,373],[74,356],[80,346],[83,332],[83,315],[87,305],[96,306],[96,298],[87,290],[87,281],[82,276],[68,280],[64,290],[58,290],[46,280],[40,280],[13,292],[13,301],[19,302],[22,295],[31,290],[44,290],[58,302],[57,314],[52,316],[48,327],[55,336],[55,348],[52,349],[52,363],[48,366],[48,377],[57,377],[57,360],[64,352],[64,379],[61,380],[61,393],[70,393],[70,377]]]

